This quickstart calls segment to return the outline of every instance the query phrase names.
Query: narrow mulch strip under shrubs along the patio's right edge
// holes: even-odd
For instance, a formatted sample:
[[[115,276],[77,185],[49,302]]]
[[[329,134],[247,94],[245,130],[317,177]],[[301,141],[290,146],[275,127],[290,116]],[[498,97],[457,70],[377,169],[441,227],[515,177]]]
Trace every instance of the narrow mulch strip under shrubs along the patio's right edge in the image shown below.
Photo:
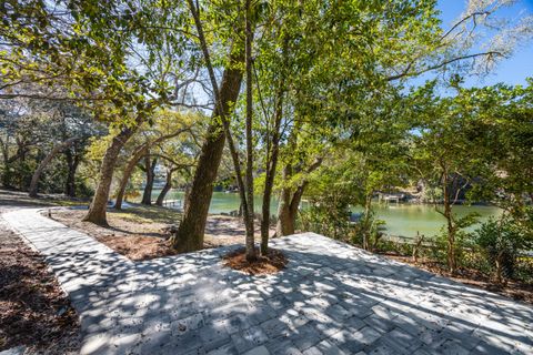
[[[445,267],[432,261],[419,260],[418,263],[414,263],[410,256],[400,256],[395,254],[382,255],[466,285],[476,286],[516,301],[533,304],[533,284],[507,281],[505,285],[496,285],[490,277],[475,270],[460,268],[455,275],[452,275]]]

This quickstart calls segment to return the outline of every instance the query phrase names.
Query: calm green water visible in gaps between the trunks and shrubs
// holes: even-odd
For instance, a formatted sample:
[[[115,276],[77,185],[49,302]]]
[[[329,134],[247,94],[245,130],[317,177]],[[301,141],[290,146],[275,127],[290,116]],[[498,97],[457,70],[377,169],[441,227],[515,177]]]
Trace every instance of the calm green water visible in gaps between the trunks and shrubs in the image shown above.
[[[159,191],[154,190],[153,199],[159,194]],[[183,192],[171,191],[168,194],[168,200],[182,200]],[[210,213],[231,212],[239,209],[239,194],[238,193],[224,193],[213,192]],[[255,211],[261,211],[261,199],[254,199]],[[386,222],[386,233],[391,235],[414,236],[416,232],[426,236],[434,235],[440,232],[440,229],[444,225],[444,217],[435,212],[432,205],[424,204],[389,204],[374,205],[376,217]],[[278,210],[278,202],[272,201],[271,211],[274,214]],[[361,207],[354,207],[353,212],[361,212]],[[462,206],[457,205],[453,207],[454,213],[459,216],[466,215],[470,212],[477,212],[481,215],[481,221],[486,220],[490,216],[497,215],[499,209],[492,206]]]

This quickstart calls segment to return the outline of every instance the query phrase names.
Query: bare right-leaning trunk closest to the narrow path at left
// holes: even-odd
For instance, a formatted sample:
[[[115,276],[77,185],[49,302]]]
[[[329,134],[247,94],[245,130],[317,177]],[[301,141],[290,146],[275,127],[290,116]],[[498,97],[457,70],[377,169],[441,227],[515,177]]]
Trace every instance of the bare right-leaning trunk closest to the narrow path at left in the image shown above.
[[[89,212],[83,217],[86,222],[92,222],[100,225],[107,225],[105,212],[108,207],[109,190],[113,180],[114,166],[117,165],[117,159],[119,158],[122,146],[133,135],[137,128],[124,128],[117,134],[103,155],[102,165],[100,166],[99,181],[94,196],[92,197]]]

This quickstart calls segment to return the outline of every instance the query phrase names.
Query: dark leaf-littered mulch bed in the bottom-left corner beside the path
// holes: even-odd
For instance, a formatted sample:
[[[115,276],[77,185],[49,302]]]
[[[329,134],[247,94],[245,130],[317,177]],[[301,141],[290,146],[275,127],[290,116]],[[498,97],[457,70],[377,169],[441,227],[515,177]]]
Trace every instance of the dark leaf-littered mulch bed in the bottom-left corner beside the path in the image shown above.
[[[24,345],[44,354],[76,354],[76,311],[42,256],[0,224],[0,351]]]

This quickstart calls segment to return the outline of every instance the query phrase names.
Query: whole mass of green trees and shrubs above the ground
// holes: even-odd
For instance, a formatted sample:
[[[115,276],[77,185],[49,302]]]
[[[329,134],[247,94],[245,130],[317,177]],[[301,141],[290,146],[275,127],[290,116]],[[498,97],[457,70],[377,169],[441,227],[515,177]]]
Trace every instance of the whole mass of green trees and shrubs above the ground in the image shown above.
[[[506,6],[467,1],[446,27],[436,1],[8,1],[2,185],[89,199],[100,226],[110,200],[162,205],[179,187],[172,253],[205,246],[213,189],[232,190],[252,264],[271,230],[312,231],[531,285],[533,79],[466,84],[530,39]],[[388,239],[378,194],[443,225],[414,215],[419,235]]]

